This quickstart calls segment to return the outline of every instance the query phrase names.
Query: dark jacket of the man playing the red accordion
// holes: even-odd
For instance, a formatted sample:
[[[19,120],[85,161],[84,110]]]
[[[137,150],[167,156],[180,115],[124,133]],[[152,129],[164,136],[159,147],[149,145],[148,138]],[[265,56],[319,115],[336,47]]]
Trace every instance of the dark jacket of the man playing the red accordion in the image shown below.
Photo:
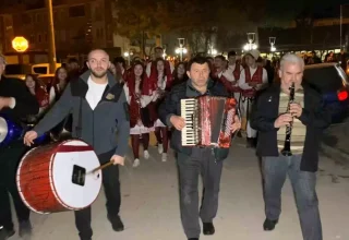
[[[173,86],[169,95],[166,96],[164,103],[159,107],[159,118],[161,122],[171,127],[171,123],[169,122],[170,117],[172,115],[181,116],[181,99],[195,97],[190,95],[195,95],[195,96],[201,95],[191,85],[191,80],[188,80],[184,83]],[[212,80],[208,81],[206,95],[228,97],[228,93],[225,89],[224,85],[220,84],[219,82],[214,82]],[[176,152],[183,153],[189,156],[191,155],[193,147],[182,146],[180,131],[174,129],[171,135],[170,143],[171,143],[171,147]],[[227,148],[214,148],[213,151],[214,151],[216,160],[224,160],[225,158],[227,158],[229,154],[229,149]]]

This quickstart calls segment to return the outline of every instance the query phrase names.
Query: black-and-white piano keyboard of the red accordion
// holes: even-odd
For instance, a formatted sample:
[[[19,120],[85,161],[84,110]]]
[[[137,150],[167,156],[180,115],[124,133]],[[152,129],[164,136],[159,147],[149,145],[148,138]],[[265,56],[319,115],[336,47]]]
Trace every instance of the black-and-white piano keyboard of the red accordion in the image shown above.
[[[185,120],[182,129],[182,146],[194,146],[198,143],[197,100],[181,99],[181,117]]]

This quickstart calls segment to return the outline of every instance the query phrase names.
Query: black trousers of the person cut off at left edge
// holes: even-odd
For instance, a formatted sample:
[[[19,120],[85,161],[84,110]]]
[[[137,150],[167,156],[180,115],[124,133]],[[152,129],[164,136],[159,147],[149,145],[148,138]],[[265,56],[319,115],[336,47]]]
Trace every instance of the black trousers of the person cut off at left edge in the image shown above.
[[[29,219],[31,212],[22,202],[15,181],[17,166],[27,149],[22,142],[0,148],[0,226],[8,230],[13,229],[9,193],[13,199],[19,221]]]

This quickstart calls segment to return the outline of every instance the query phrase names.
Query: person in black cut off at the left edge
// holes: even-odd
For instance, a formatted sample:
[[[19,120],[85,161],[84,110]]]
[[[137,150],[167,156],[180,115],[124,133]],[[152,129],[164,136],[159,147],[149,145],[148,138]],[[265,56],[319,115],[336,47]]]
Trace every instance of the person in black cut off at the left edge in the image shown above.
[[[39,112],[39,104],[31,94],[24,82],[15,79],[7,79],[3,74],[5,59],[0,55],[0,115],[21,124],[21,120],[28,115]],[[5,124],[0,119],[0,124]],[[9,145],[2,145],[4,136],[0,135],[0,239],[5,240],[15,233],[12,221],[10,196],[12,196],[16,216],[19,219],[20,237],[32,235],[29,209],[22,202],[17,191],[15,175],[17,165],[28,149],[22,141],[13,140]]]

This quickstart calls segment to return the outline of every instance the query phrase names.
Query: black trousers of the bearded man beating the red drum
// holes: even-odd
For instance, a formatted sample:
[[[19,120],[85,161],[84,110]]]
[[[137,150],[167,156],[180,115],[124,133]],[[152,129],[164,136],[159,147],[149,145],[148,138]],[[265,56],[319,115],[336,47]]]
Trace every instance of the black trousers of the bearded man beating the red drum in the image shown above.
[[[98,156],[99,163],[106,164],[110,160],[115,151]],[[119,167],[118,165],[109,166],[103,169],[103,185],[107,199],[107,213],[112,221],[118,217],[121,204]],[[82,239],[91,239],[93,230],[91,228],[91,206],[82,211],[75,211],[75,225]]]

